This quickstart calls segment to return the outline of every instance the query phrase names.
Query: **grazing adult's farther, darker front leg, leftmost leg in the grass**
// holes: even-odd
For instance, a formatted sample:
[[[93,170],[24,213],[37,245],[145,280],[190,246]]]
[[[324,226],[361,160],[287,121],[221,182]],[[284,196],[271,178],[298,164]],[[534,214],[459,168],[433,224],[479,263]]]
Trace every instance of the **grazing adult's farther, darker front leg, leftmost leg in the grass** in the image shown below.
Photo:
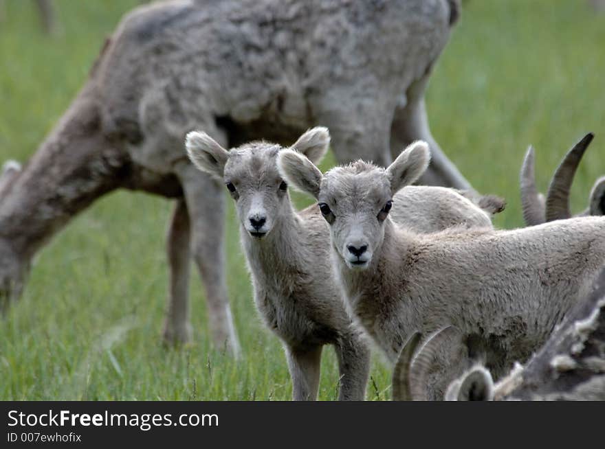
[[[188,310],[190,240],[187,205],[184,200],[178,200],[166,236],[170,286],[164,341],[168,344],[187,343],[191,338]]]

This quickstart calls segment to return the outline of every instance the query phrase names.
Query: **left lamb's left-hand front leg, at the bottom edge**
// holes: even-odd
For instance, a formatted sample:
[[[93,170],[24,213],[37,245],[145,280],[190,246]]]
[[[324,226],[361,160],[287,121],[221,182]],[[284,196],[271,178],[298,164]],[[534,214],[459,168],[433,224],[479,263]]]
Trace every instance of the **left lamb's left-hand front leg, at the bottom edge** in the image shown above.
[[[314,401],[319,390],[322,346],[311,349],[286,347],[288,368],[292,377],[292,399]]]

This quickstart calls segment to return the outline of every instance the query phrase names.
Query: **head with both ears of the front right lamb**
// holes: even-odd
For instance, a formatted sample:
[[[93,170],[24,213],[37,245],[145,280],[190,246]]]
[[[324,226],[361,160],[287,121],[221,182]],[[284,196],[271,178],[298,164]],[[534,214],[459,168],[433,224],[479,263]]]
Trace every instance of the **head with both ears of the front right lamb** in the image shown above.
[[[428,167],[428,144],[412,143],[386,169],[357,161],[322,176],[303,155],[285,150],[279,170],[292,186],[314,196],[330,225],[334,249],[351,269],[367,268],[384,240],[393,196]]]

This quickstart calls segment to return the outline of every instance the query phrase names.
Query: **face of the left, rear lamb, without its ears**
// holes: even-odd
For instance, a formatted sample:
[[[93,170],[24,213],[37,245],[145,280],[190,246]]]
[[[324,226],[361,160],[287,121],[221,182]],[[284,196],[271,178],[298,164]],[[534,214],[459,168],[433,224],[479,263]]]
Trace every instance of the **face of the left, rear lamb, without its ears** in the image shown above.
[[[223,181],[241,226],[253,238],[270,233],[289,203],[287,184],[277,170],[280,150],[271,143],[250,143],[231,150],[225,164]]]

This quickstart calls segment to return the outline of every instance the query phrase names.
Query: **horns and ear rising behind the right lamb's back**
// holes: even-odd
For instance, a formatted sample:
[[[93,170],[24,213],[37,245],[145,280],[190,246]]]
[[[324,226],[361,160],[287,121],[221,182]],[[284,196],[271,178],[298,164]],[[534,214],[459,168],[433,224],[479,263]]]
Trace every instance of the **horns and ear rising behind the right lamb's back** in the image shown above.
[[[573,183],[575,170],[593,137],[592,133],[588,133],[567,152],[553,174],[546,200],[536,189],[536,177],[533,172],[533,147],[530,146],[527,149],[520,174],[523,218],[527,226],[571,217],[569,190]],[[577,216],[587,215],[605,215],[605,176],[597,179],[589,197],[588,208]]]

